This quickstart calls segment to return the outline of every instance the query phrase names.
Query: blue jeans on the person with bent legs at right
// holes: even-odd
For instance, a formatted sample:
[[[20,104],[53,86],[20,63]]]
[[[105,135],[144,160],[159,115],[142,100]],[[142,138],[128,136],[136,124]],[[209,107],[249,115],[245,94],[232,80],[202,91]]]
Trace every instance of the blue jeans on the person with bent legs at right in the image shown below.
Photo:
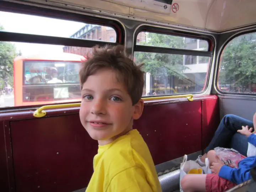
[[[237,132],[237,130],[242,129],[242,126],[254,128],[252,121],[232,114],[225,115],[204,153],[208,153],[209,150],[219,146],[233,148],[242,155],[247,156],[247,137]]]

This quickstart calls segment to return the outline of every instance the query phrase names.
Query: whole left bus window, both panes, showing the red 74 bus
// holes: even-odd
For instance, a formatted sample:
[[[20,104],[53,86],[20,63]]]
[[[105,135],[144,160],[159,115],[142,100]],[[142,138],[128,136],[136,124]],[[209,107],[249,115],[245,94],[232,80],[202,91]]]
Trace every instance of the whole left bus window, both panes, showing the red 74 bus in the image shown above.
[[[0,17],[0,31],[116,42],[112,27],[2,11]],[[26,27],[17,22],[21,20]],[[0,41],[0,107],[81,101],[79,70],[90,51],[89,47]]]

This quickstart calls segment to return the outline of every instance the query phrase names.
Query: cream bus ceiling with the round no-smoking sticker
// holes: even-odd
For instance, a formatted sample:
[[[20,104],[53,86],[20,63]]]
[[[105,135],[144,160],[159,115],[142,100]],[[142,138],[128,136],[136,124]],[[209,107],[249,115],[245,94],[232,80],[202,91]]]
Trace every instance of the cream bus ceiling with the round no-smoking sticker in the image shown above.
[[[6,0],[8,1],[8,0]],[[14,1],[12,1],[14,2]],[[16,0],[16,2],[21,2]],[[162,25],[223,32],[256,23],[255,0],[27,0],[103,15],[143,19]],[[146,3],[145,3],[146,2]],[[22,1],[21,3],[24,3]],[[152,14],[154,12],[154,14]]]

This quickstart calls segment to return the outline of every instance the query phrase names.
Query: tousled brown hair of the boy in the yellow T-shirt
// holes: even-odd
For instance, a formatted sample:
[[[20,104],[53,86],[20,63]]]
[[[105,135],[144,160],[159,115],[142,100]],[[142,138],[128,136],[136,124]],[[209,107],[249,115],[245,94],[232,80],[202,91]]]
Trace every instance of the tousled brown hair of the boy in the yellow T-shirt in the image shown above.
[[[132,105],[140,100],[144,87],[144,72],[141,70],[143,64],[136,65],[126,54],[124,46],[95,46],[86,59],[79,73],[81,88],[90,75],[99,69],[108,68],[116,72],[119,82],[123,82],[132,99]]]

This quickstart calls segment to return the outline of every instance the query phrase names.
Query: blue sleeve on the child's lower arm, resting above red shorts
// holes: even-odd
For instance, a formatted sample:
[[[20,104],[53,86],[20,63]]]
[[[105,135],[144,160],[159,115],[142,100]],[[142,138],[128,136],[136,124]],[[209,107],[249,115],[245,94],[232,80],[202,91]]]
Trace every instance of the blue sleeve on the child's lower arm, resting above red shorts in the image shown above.
[[[236,183],[237,185],[251,179],[250,169],[232,168],[226,165],[220,168],[219,177]]]

